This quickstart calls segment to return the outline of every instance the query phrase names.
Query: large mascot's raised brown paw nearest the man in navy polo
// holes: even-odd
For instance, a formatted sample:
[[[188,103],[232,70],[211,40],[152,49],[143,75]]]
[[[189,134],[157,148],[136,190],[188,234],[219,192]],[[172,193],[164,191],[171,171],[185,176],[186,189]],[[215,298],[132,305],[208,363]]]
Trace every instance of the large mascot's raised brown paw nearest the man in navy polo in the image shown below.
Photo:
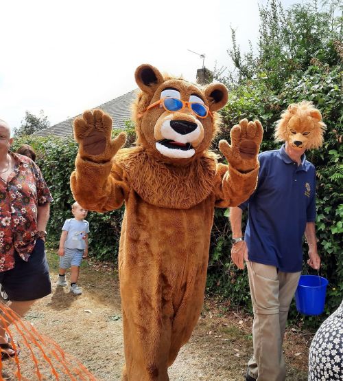
[[[257,154],[263,138],[263,127],[259,120],[239,121],[230,132],[231,145],[226,140],[219,143],[220,151],[228,163],[238,171],[251,171],[257,166]]]

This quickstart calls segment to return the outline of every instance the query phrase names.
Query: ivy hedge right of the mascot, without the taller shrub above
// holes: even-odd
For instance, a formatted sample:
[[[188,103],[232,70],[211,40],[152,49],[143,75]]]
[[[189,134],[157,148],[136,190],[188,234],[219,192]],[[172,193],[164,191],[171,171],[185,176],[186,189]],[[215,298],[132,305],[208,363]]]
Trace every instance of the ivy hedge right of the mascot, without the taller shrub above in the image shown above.
[[[338,67],[311,66],[305,73],[294,74],[278,96],[268,90],[260,78],[250,80],[230,92],[227,107],[223,110],[224,128],[217,140],[229,138],[229,130],[241,118],[261,120],[264,128],[261,151],[279,148],[272,138],[274,123],[281,112],[292,102],[312,100],[322,112],[327,124],[324,146],[306,153],[317,170],[317,237],[318,251],[322,257],[321,275],[329,279],[327,314],[342,301],[343,293],[343,127],[342,94],[339,86],[342,72]],[[314,91],[316,89],[316,91]],[[217,142],[215,143],[217,144]],[[214,146],[215,146],[214,144]],[[211,240],[207,291],[229,298],[233,305],[249,305],[246,271],[237,270],[230,262],[231,233],[227,212],[217,210]],[[314,274],[307,264],[307,245],[304,243],[304,272]],[[250,306],[251,307],[251,306]],[[294,306],[291,318],[296,317]],[[307,318],[308,322],[318,318]]]

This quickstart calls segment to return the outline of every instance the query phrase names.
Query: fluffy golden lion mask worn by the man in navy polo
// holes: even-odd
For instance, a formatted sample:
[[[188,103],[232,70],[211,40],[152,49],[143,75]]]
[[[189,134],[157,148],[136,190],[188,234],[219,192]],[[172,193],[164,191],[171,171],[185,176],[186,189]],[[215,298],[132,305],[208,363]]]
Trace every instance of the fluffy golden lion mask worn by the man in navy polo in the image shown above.
[[[319,148],[326,128],[321,120],[322,115],[312,102],[292,103],[276,124],[275,140],[288,142],[296,150]]]

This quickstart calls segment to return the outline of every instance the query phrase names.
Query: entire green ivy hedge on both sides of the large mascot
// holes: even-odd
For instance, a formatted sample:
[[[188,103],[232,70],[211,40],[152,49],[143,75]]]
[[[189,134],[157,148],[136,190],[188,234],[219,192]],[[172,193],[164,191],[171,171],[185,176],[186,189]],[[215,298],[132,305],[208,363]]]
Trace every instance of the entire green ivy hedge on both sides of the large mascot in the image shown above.
[[[274,96],[272,91],[268,92],[258,79],[251,80],[250,83],[230,92],[228,106],[222,112],[225,127],[217,137],[217,140],[229,139],[229,127],[241,118],[249,120],[259,118],[265,130],[261,151],[274,149],[279,146],[272,139],[274,122],[279,119],[281,111],[289,103],[311,99],[321,105],[320,111],[324,122],[327,123],[325,144],[322,149],[307,153],[307,157],[317,168],[317,230],[319,252],[322,257],[321,274],[330,281],[327,314],[338,306],[343,291],[341,144],[343,131],[342,106],[340,106],[340,92],[337,89],[341,81],[342,73],[338,69],[328,71],[327,68],[309,67],[305,74],[292,76],[279,96]],[[128,132],[132,144],[132,126]],[[217,146],[217,140],[213,146]],[[13,149],[23,143],[34,146],[37,152],[37,164],[54,197],[48,232],[49,241],[58,241],[64,219],[71,217],[70,206],[73,197],[69,188],[69,176],[74,168],[77,144],[72,138],[38,138],[31,135],[16,140]],[[89,213],[87,217],[91,224],[89,244],[93,256],[116,261],[122,217],[122,209],[104,214]],[[237,270],[230,262],[230,238],[227,211],[217,209],[211,235],[207,292],[228,298],[232,305],[251,307],[246,272]],[[307,253],[306,245],[304,252]],[[304,269],[307,271],[309,269],[305,265],[305,259],[306,255]],[[296,316],[294,307],[291,316]]]

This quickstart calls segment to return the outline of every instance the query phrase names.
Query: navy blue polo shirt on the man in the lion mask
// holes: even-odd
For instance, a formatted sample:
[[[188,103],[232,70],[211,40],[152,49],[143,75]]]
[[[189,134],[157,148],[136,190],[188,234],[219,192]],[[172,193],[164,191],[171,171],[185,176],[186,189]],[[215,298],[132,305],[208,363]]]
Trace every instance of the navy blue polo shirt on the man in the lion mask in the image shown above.
[[[316,169],[279,150],[259,155],[255,193],[239,208],[249,207],[245,240],[250,261],[273,265],[282,272],[303,268],[303,235],[307,222],[316,220]]]

